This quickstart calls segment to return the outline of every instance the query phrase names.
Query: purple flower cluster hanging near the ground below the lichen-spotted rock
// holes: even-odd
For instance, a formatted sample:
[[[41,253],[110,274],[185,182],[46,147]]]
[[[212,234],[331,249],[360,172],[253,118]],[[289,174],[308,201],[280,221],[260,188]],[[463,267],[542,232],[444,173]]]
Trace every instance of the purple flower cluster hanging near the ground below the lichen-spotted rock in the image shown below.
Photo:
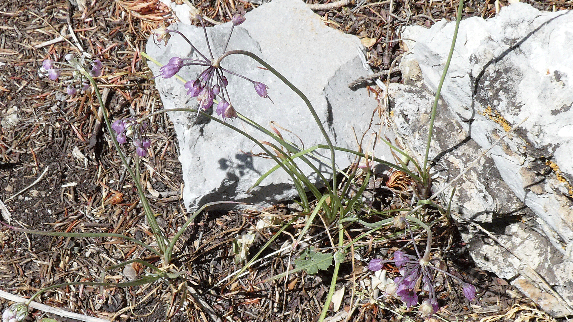
[[[399,218],[399,222],[405,223],[410,228],[409,223],[407,223],[405,219]],[[414,240],[411,229],[410,234],[412,240]],[[473,301],[476,299],[476,288],[472,284],[468,284],[453,274],[431,264],[430,260],[427,259],[429,258],[429,254],[425,254],[423,257],[420,256],[415,244],[414,249],[418,254],[417,257],[397,251],[394,252],[394,260],[381,260],[380,258],[373,258],[370,260],[368,269],[375,272],[382,269],[384,264],[387,262],[394,262],[394,264],[399,268],[401,276],[394,278],[394,285],[390,288],[387,287],[387,294],[400,297],[400,299],[406,304],[407,308],[417,305],[418,292],[421,290],[416,289],[416,285],[418,285],[418,282],[421,280],[423,283],[422,289],[427,292],[428,298],[422,301],[422,304],[419,307],[419,312],[422,313],[422,316],[432,315],[439,309],[438,299],[435,294],[434,285],[432,284],[433,274],[430,271],[430,269],[434,269],[460,282],[464,295],[468,300]]]

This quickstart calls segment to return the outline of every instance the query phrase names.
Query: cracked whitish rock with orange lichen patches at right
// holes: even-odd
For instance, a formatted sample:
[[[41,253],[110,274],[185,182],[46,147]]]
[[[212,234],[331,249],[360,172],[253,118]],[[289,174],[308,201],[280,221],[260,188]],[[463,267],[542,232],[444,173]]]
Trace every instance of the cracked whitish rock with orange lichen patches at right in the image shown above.
[[[418,63],[424,89],[394,85],[390,95],[398,128],[415,151],[423,151],[418,137],[425,125],[415,129],[408,120],[427,119],[431,100],[426,97],[426,109],[407,101],[413,91],[433,95],[454,26],[442,21],[402,34],[417,40],[403,61],[407,71]],[[481,224],[495,237],[461,226],[477,265],[515,278],[513,285],[555,317],[573,312],[572,29],[570,11],[543,12],[525,3],[504,7],[492,19],[464,19],[431,150],[434,178],[445,184],[504,136],[454,184],[452,207],[461,221]],[[449,197],[446,191],[444,200]]]

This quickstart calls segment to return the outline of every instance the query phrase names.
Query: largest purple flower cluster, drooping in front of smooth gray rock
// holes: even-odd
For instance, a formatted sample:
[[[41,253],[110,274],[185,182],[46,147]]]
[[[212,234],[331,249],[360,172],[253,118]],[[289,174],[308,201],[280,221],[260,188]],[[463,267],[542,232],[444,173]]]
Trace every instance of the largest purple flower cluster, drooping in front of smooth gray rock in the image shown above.
[[[207,47],[209,48],[209,54],[211,58],[207,58],[203,55],[193,44],[191,41],[185,37],[182,33],[178,32],[177,30],[166,29],[165,27],[161,27],[155,30],[155,39],[156,40],[163,40],[167,44],[169,40],[170,33],[178,33],[180,36],[185,38],[185,40],[191,45],[191,47],[201,56],[202,58],[181,58],[181,57],[171,57],[169,62],[162,66],[159,69],[159,74],[155,77],[161,76],[162,78],[171,78],[175,76],[179,70],[185,66],[196,65],[196,66],[203,66],[205,69],[199,77],[195,80],[190,80],[185,83],[185,88],[187,89],[187,95],[191,97],[197,97],[197,101],[199,103],[199,111],[206,111],[213,105],[214,100],[218,97],[219,101],[217,104],[217,108],[215,112],[217,115],[222,116],[223,121],[226,119],[234,119],[237,117],[237,111],[234,109],[233,104],[230,103],[229,92],[227,92],[227,85],[229,81],[227,81],[227,77],[224,73],[233,74],[235,76],[244,78],[245,80],[250,81],[254,85],[255,92],[263,98],[269,98],[266,90],[268,86],[262,84],[258,81],[253,81],[245,76],[240,74],[231,72],[225,68],[222,68],[219,64],[222,58],[215,60],[213,57],[213,53],[211,53],[211,47],[209,44],[209,38],[207,38],[207,33],[205,29],[205,23],[203,23],[203,19],[201,15],[197,15],[196,18],[201,22],[203,30],[205,31],[205,40],[207,42]],[[234,14],[233,19],[231,20],[233,25],[231,26],[231,31],[229,33],[229,37],[227,38],[227,44],[225,44],[225,48],[223,52],[226,52],[227,45],[229,44],[229,39],[231,38],[231,34],[233,33],[233,29],[235,26],[240,25],[245,21],[245,17],[241,14]],[[223,54],[224,57],[225,54]],[[272,101],[272,100],[271,100]]]

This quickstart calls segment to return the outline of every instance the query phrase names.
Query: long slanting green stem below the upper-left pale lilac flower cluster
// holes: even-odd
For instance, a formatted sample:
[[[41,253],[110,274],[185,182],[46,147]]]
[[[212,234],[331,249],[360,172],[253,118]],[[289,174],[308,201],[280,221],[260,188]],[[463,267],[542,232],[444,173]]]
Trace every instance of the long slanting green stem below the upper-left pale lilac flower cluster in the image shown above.
[[[151,210],[151,206],[149,205],[149,201],[145,197],[141,183],[138,180],[138,176],[136,176],[134,171],[132,170],[132,168],[129,167],[129,163],[127,162],[127,159],[125,159],[123,152],[121,152],[121,147],[119,145],[119,142],[117,142],[117,140],[115,139],[115,136],[113,135],[111,123],[109,122],[108,112],[107,112],[107,109],[105,108],[104,101],[101,99],[100,90],[99,90],[99,87],[97,87],[96,80],[93,79],[93,77],[90,76],[90,74],[85,69],[82,69],[81,73],[83,73],[84,76],[88,78],[89,82],[93,86],[93,89],[96,93],[97,100],[99,101],[100,107],[103,111],[105,125],[107,126],[109,134],[111,135],[111,138],[113,140],[113,145],[115,146],[115,148],[117,150],[117,154],[119,154],[119,157],[121,158],[121,162],[123,162],[123,164],[127,168],[127,171],[129,172],[129,175],[131,175],[131,178],[134,180],[135,186],[137,187],[137,190],[138,190],[140,201],[142,202],[143,210],[145,211],[145,214],[146,214],[147,222],[149,223],[149,225],[151,227],[151,231],[153,232],[153,234],[155,236],[155,241],[157,242],[159,252],[164,254],[165,250],[166,250],[167,238],[163,234],[163,231],[160,229],[160,227],[157,223],[157,220],[155,219],[155,217],[153,215],[153,211]],[[138,164],[138,166],[139,166],[139,164]]]

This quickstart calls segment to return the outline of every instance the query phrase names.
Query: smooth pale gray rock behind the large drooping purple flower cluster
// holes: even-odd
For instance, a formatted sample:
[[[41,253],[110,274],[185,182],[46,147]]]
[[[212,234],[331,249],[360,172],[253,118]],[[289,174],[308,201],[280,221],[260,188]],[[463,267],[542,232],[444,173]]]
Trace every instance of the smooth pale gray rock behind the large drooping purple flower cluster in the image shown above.
[[[300,0],[274,0],[245,17],[246,22],[235,28],[228,49],[249,50],[272,65],[308,96],[333,144],[358,150],[355,138],[360,139],[368,131],[372,111],[376,108],[376,101],[368,97],[366,89],[348,89],[352,80],[370,73],[360,60],[363,55],[360,40],[328,28]],[[171,27],[185,33],[202,53],[208,53],[201,28],[183,23]],[[208,28],[214,56],[222,54],[221,46],[229,29],[229,23]],[[147,53],[162,64],[173,56],[197,57],[178,35],[172,36],[167,46],[155,45],[150,40]],[[221,65],[269,87],[274,104],[259,97],[252,83],[227,74],[230,97],[238,112],[269,130],[269,122],[274,121],[284,128],[276,127],[282,135],[299,146],[299,138],[305,148],[325,143],[304,101],[268,70],[257,68],[256,61],[232,55]],[[158,73],[158,66],[150,64],[150,68]],[[200,72],[199,68],[183,68],[179,75],[185,80],[193,80]],[[197,100],[185,95],[186,89],[179,80],[156,78],[156,85],[166,109],[197,108]],[[179,140],[185,180],[183,198],[187,209],[220,200],[268,206],[296,196],[292,179],[282,170],[275,171],[260,187],[247,193],[249,187],[275,165],[274,161],[245,154],[243,151],[257,154],[261,150],[249,139],[221,124],[191,113],[169,112],[169,115]],[[273,142],[245,121],[236,119],[229,124],[256,139]],[[370,131],[366,136],[363,151],[372,152],[368,146],[372,133]],[[319,170],[331,179],[329,151],[317,150],[315,156]],[[354,156],[340,153],[336,166],[343,169],[353,161]],[[311,180],[317,181],[317,174],[306,164],[299,162],[299,166]]]

